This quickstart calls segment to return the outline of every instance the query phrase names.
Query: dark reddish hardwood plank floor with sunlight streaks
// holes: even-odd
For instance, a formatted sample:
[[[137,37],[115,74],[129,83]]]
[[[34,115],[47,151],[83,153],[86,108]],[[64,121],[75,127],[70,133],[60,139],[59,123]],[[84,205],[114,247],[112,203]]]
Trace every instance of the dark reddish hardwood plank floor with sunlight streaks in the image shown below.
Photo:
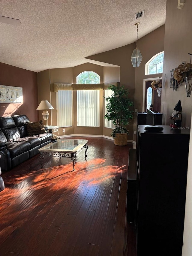
[[[136,256],[126,221],[129,148],[98,137],[70,158],[38,155],[2,173],[0,255]]]

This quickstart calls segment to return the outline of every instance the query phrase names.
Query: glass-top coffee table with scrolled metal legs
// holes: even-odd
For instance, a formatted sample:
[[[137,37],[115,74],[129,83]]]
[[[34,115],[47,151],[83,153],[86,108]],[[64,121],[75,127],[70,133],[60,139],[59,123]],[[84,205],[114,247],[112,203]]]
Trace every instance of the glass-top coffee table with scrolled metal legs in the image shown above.
[[[45,155],[53,157],[70,157],[73,161],[73,171],[75,170],[76,163],[76,154],[85,148],[85,160],[86,152],[88,149],[87,146],[88,140],[70,140],[70,139],[58,139],[55,142],[51,142],[46,146],[39,149],[40,156],[39,161],[41,168],[43,168],[41,158],[44,158]]]

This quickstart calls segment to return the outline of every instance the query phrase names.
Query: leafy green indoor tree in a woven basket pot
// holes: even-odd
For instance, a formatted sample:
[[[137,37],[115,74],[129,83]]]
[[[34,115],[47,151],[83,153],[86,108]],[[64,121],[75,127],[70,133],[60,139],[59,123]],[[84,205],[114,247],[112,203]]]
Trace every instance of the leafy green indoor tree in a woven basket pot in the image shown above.
[[[133,102],[128,98],[129,92],[124,86],[117,87],[110,84],[108,89],[113,91],[113,95],[105,98],[107,114],[104,118],[113,120],[113,124],[116,125],[111,132],[115,145],[127,145],[129,131],[126,125],[129,124],[130,119],[133,119],[133,110],[130,110],[130,107],[133,107]]]

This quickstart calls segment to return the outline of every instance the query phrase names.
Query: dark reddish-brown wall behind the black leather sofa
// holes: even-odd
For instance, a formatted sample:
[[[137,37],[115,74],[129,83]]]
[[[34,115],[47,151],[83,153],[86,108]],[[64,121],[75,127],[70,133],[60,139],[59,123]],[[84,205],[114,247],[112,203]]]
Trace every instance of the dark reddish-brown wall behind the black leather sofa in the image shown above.
[[[0,103],[0,116],[25,114],[31,121],[38,120],[37,73],[0,63],[0,85],[22,87],[23,103]]]

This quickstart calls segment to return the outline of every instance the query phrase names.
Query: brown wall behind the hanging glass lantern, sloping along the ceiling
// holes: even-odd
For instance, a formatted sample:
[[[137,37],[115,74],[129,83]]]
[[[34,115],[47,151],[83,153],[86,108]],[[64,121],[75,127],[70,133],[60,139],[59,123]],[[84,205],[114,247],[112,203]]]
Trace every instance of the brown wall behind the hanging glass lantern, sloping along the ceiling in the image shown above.
[[[135,43],[87,57],[88,59],[120,66],[120,85],[124,85],[125,88],[129,89],[130,98],[134,102],[134,109],[137,108],[138,112],[142,112],[143,79],[154,77],[154,75],[145,75],[145,64],[155,54],[164,50],[164,30],[165,26],[161,26],[160,28],[138,40],[137,45],[138,48],[140,48],[143,56],[139,68],[133,68],[130,60],[133,49],[135,48]],[[162,74],[159,74],[159,76],[162,76]],[[157,77],[157,75],[155,75],[155,77]],[[136,135],[134,136],[133,134],[133,131],[136,131],[136,124],[137,114],[134,113],[134,119],[131,120],[128,126],[129,140],[136,141]]]

